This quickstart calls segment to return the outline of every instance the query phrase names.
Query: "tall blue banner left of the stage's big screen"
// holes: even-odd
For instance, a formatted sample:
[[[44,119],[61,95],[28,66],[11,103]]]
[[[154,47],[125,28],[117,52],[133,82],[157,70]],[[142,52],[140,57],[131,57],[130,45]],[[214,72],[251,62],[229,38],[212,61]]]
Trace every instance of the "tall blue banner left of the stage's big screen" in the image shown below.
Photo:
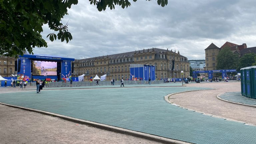
[[[31,60],[26,59],[26,58],[21,58],[20,61],[20,72],[17,74],[17,79],[18,80],[23,80],[23,81],[30,81],[31,78]],[[18,64],[19,65],[19,64]]]

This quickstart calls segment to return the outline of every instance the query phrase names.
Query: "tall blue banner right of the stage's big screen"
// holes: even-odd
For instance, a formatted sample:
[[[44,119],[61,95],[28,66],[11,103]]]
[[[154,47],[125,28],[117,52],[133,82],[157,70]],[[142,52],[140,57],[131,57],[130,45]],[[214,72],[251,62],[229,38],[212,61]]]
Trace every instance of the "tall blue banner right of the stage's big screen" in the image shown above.
[[[62,61],[61,81],[70,81],[70,79],[71,79],[71,61]]]

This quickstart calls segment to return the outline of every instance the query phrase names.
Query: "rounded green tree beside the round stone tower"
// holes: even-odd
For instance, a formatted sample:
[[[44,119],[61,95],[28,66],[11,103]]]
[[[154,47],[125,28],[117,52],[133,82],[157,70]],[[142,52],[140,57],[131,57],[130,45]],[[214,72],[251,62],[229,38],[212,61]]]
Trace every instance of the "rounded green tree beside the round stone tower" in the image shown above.
[[[236,69],[238,55],[234,54],[229,47],[221,49],[217,56],[217,69]]]

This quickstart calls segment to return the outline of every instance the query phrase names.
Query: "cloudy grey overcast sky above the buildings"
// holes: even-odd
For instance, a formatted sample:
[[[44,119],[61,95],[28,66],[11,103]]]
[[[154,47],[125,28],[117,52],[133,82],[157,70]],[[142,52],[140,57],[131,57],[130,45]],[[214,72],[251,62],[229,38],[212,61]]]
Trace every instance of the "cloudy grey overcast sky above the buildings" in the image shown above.
[[[44,26],[48,47],[34,53],[83,59],[154,47],[193,60],[205,59],[204,49],[211,43],[256,46],[255,0],[168,0],[165,7],[155,0],[129,1],[127,9],[99,12],[88,0],[79,0],[62,20],[73,39],[51,42]]]

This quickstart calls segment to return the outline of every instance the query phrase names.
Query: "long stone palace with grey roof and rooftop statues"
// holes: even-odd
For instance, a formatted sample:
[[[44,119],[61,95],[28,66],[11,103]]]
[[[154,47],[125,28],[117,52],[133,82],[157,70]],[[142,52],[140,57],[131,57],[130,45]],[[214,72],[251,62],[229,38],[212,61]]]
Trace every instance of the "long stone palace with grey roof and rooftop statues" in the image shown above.
[[[100,77],[104,74],[112,79],[130,79],[130,64],[155,65],[156,79],[189,77],[189,61],[178,51],[158,48],[143,49],[100,57],[76,59],[72,77],[85,74]],[[173,69],[172,69],[173,68]],[[89,80],[89,79],[85,79]]]

